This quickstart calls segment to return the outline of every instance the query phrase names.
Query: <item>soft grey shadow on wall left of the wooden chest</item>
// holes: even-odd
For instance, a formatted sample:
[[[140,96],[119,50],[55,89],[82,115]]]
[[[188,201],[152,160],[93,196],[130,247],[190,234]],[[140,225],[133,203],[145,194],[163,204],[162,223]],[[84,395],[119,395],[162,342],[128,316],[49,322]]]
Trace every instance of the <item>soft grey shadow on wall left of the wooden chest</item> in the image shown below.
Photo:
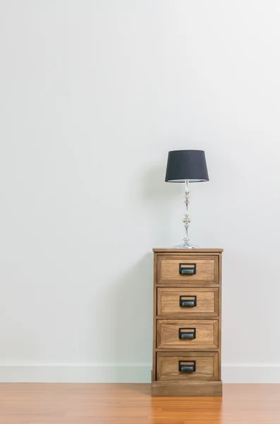
[[[150,382],[152,370],[153,255],[145,254],[110,291],[111,381]]]

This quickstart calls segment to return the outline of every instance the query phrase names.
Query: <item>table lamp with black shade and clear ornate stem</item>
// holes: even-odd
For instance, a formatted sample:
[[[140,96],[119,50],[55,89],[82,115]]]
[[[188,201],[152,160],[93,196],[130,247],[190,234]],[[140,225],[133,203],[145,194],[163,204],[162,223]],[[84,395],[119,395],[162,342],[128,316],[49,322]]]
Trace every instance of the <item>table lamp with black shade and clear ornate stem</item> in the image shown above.
[[[167,159],[165,181],[185,182],[185,215],[183,216],[185,237],[183,237],[181,245],[174,247],[178,249],[193,249],[195,246],[190,245],[190,239],[188,238],[188,227],[190,225],[190,217],[188,215],[190,192],[188,183],[209,181],[205,152],[195,150],[170,151]]]

